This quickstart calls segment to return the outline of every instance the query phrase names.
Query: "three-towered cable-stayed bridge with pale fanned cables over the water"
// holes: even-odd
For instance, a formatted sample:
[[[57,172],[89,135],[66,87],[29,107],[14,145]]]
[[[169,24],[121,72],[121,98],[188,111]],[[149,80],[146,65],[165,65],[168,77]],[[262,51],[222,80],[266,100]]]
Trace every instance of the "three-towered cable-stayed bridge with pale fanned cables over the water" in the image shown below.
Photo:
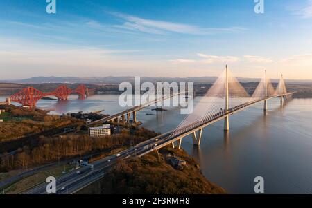
[[[145,155],[168,144],[180,149],[182,139],[187,135],[192,135],[193,144],[199,146],[202,129],[206,126],[224,120],[224,130],[229,131],[229,117],[234,113],[259,104],[259,102],[263,102],[263,111],[268,111],[269,100],[280,97],[281,106],[283,106],[294,93],[287,92],[283,75],[281,75],[279,84],[275,89],[265,73],[253,95],[250,96],[226,67],[223,75],[209,88],[209,91],[202,97],[193,113],[187,115],[173,131],[160,135],[157,140],[149,140],[148,151],[139,151],[138,155]]]

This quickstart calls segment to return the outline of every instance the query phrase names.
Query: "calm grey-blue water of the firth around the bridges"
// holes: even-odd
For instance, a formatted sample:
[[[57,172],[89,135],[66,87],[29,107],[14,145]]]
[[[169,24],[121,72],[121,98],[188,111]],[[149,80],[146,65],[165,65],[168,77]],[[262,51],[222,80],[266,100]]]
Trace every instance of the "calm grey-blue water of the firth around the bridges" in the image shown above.
[[[105,109],[103,113],[112,115],[123,110],[118,95],[76,97],[62,103],[40,100],[37,106],[54,109],[51,113]],[[284,108],[279,100],[270,100],[269,108],[266,115],[262,103],[236,113],[230,117],[229,133],[218,122],[205,128],[199,149],[191,138],[184,138],[182,147],[198,160],[208,180],[229,193],[254,193],[256,176],[264,178],[266,193],[312,193],[312,100],[291,100]],[[137,116],[142,126],[162,133],[184,118],[179,108],[158,113],[146,108]]]

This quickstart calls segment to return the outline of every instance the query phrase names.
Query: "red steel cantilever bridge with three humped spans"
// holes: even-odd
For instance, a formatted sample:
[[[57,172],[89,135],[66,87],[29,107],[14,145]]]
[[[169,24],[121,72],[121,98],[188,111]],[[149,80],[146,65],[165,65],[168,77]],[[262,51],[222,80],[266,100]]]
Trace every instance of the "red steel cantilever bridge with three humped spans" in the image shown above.
[[[44,93],[32,86],[27,87],[8,97],[10,102],[18,102],[23,106],[30,106],[33,108],[36,106],[38,100],[46,96],[58,97],[58,100],[67,100],[68,96],[72,93],[77,93],[80,99],[85,99],[89,94],[88,88],[84,84],[80,84],[76,89],[72,90],[68,86],[61,85],[55,89],[55,91],[50,93]]]

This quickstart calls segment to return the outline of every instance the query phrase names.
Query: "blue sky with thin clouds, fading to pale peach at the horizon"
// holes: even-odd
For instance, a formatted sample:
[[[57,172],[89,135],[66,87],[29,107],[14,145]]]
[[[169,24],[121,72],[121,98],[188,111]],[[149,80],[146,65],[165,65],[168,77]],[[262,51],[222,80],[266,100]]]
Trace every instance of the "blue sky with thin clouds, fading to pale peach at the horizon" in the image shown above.
[[[0,1],[0,80],[36,76],[312,79],[312,0]]]

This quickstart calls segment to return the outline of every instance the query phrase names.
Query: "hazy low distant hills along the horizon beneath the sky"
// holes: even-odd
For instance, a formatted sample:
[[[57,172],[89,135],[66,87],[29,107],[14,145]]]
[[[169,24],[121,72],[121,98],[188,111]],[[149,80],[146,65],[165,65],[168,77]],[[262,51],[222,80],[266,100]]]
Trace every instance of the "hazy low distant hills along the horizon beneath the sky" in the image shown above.
[[[195,83],[214,83],[217,77],[141,77],[141,82],[195,82]],[[241,78],[239,82],[259,82],[260,79]],[[0,80],[3,83],[17,84],[42,84],[42,83],[84,83],[84,84],[119,84],[121,82],[134,82],[134,77],[31,77],[28,79]],[[279,82],[272,79],[272,82]],[[312,84],[312,80],[286,79],[287,83]]]

